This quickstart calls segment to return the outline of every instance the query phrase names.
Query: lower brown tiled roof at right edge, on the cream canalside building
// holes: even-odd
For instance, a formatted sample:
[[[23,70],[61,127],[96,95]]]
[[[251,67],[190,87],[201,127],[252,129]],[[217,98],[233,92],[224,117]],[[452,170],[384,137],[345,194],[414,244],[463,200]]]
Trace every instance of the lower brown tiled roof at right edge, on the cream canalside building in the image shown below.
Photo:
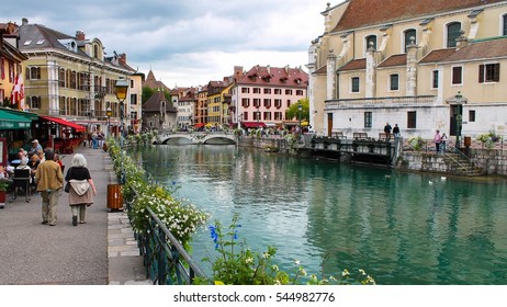
[[[446,61],[492,59],[498,57],[507,57],[507,38],[505,36],[496,39],[471,42],[446,58]]]

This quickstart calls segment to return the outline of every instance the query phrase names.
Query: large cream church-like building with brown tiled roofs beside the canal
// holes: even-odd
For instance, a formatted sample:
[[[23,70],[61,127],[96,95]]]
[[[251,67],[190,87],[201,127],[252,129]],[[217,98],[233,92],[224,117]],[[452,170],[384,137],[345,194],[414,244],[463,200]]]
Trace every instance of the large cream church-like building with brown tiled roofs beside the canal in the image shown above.
[[[319,135],[507,135],[507,1],[350,0],[308,50]],[[454,138],[452,138],[454,139]]]

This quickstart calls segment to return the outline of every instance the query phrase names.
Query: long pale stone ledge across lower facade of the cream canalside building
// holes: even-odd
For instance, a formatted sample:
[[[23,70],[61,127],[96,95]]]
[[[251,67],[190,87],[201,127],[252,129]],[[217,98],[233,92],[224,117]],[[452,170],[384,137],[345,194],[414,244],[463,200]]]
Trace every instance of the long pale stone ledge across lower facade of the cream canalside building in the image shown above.
[[[336,99],[326,100],[325,111],[346,107],[420,106],[435,103],[437,103],[436,95]]]

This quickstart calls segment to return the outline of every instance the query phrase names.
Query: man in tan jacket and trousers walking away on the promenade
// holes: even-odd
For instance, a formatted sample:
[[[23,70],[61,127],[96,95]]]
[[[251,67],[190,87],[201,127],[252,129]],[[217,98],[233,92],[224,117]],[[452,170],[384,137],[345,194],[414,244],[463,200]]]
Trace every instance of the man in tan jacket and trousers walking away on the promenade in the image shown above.
[[[49,226],[56,225],[56,206],[58,205],[59,191],[64,186],[64,174],[61,173],[60,166],[54,161],[54,158],[55,152],[47,150],[46,160],[38,164],[35,172],[37,192],[41,193],[43,200],[42,223]]]

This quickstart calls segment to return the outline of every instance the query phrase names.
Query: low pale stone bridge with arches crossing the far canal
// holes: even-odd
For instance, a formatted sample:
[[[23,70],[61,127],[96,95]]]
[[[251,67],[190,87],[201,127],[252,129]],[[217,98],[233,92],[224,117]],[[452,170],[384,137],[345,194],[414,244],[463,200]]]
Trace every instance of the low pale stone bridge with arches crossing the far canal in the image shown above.
[[[155,144],[171,144],[171,145],[228,145],[236,144],[236,137],[233,134],[226,133],[166,133],[158,136]]]

